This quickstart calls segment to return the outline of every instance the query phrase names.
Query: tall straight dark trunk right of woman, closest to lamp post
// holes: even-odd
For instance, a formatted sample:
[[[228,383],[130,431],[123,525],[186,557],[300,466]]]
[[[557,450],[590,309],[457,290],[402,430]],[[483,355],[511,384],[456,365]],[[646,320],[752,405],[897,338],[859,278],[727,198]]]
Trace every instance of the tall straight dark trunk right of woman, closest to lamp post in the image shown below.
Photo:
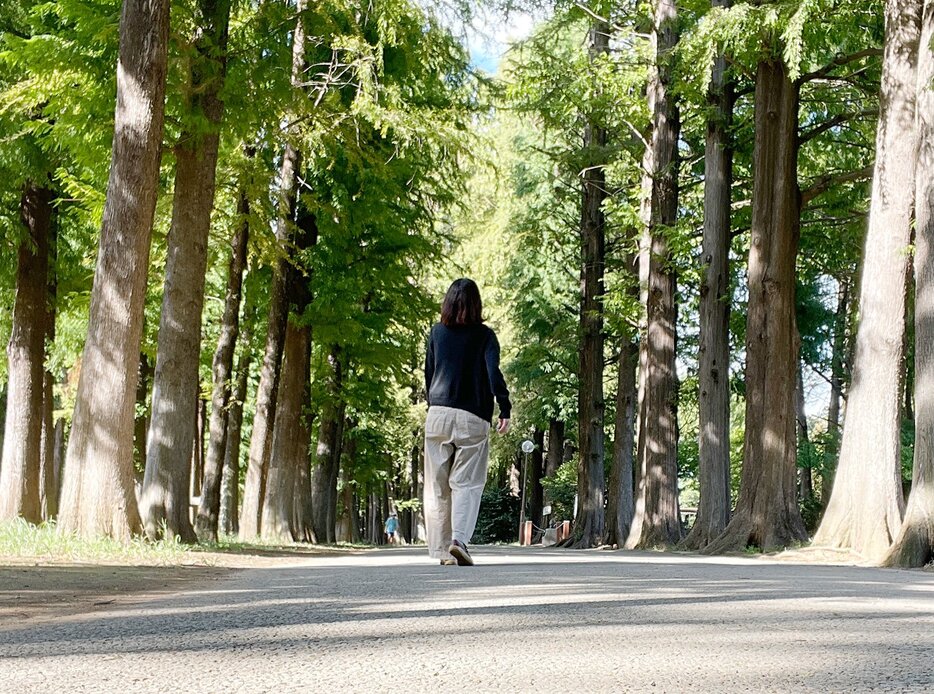
[[[590,60],[609,52],[609,25],[595,21],[590,29]],[[603,542],[603,273],[606,254],[603,201],[606,198],[606,129],[587,117],[584,150],[588,166],[581,192],[581,304],[580,386],[578,391],[577,468],[578,512],[574,546],[594,547]]]

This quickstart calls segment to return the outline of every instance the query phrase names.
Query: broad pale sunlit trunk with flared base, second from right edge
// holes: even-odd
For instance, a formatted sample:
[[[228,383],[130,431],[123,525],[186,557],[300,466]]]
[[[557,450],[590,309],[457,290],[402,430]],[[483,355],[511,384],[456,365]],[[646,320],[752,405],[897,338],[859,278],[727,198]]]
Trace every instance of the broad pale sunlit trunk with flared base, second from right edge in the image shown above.
[[[900,386],[918,162],[915,89],[920,84],[921,12],[922,0],[886,2],[876,162],[852,382],[833,492],[814,536],[815,544],[849,548],[876,560],[898,534],[904,508]],[[920,216],[924,206],[916,207]]]

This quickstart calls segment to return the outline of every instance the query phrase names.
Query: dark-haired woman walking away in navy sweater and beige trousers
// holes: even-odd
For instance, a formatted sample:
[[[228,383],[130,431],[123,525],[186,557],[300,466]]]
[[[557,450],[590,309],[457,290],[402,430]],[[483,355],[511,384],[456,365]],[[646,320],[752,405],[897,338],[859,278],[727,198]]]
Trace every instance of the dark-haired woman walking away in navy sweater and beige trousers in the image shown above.
[[[496,333],[483,324],[480,290],[456,280],[431,329],[425,357],[425,531],[428,552],[444,565],[472,566],[473,536],[486,484],[493,400],[496,430],[509,430],[512,405],[499,370]]]

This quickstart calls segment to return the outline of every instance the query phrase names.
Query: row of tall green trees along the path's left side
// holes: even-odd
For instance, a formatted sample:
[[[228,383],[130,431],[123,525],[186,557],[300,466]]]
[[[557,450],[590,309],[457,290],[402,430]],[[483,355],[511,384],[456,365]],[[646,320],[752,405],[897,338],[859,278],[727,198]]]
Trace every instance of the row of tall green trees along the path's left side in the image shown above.
[[[0,518],[380,537],[387,485],[418,491],[412,363],[470,155],[464,49],[408,0],[2,22]]]

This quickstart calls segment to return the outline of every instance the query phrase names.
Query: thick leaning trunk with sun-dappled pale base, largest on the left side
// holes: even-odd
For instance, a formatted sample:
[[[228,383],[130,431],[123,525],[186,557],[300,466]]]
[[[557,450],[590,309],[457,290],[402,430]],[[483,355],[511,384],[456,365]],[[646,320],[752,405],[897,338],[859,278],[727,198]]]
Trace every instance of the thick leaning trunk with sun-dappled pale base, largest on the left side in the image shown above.
[[[120,15],[110,180],[59,523],[85,536],[127,540],[141,526],[133,410],[162,156],[169,5],[124,2]]]

